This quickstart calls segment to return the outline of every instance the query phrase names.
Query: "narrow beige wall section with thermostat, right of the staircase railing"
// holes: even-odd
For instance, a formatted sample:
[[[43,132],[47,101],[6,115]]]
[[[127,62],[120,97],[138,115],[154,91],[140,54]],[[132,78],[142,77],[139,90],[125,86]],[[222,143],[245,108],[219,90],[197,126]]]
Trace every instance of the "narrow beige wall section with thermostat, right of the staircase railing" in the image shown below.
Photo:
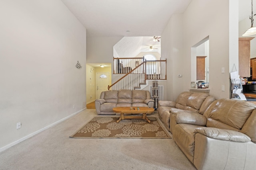
[[[176,100],[183,92],[184,74],[188,72],[183,63],[183,15],[176,14],[170,18],[161,35],[161,58],[166,59],[167,80],[165,95],[167,100]],[[190,71],[189,71],[190,72]],[[178,77],[182,74],[182,77]]]

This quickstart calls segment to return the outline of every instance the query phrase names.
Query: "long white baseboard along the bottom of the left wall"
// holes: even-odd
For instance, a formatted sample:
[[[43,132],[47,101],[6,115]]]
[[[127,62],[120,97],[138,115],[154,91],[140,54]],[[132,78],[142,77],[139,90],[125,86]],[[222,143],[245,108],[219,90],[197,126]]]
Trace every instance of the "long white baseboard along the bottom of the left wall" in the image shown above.
[[[22,141],[25,141],[26,139],[28,139],[28,138],[30,138],[30,137],[32,137],[32,136],[34,136],[34,135],[36,135],[36,134],[38,134],[38,133],[40,133],[40,132],[42,132],[42,131],[44,131],[44,130],[46,130],[46,129],[48,129],[48,128],[50,128],[50,127],[52,127],[52,126],[54,126],[54,125],[56,125],[56,124],[58,124],[58,123],[60,123],[60,122],[62,122],[62,121],[64,121],[64,120],[66,120],[66,119],[68,119],[68,118],[74,116],[74,115],[76,115],[77,113],[80,113],[81,111],[84,111],[85,109],[86,109],[86,108],[84,108],[84,109],[82,109],[82,110],[79,110],[79,111],[77,111],[76,113],[73,113],[72,115],[69,115],[69,116],[67,116],[67,117],[64,117],[63,119],[60,119],[59,121],[56,121],[56,122],[54,122],[54,123],[52,123],[52,124],[50,124],[50,125],[48,125],[48,126],[42,128],[42,129],[38,130],[38,131],[35,131],[34,133],[31,133],[30,135],[27,135],[27,136],[25,136],[25,137],[23,137],[23,138],[21,138],[21,139],[19,139],[19,140],[17,140],[17,141],[14,141],[13,143],[10,143],[10,144],[8,144],[8,145],[6,145],[6,146],[0,148],[0,152],[4,151],[4,150],[6,150],[6,149],[8,149],[8,148],[10,148],[10,147],[13,147],[14,145],[17,145],[18,143],[20,143],[20,142],[22,142]]]

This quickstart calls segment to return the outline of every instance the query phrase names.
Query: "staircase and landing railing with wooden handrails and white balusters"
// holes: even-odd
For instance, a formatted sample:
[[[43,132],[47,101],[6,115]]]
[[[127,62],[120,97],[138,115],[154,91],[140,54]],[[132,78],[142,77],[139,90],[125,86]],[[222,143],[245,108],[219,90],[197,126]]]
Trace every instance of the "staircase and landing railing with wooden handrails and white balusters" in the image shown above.
[[[138,64],[141,59],[143,62]],[[126,64],[124,67],[123,63],[136,63],[136,65]],[[132,67],[135,68],[132,69]],[[114,74],[124,74],[124,76],[109,85],[108,90],[143,89],[148,86],[148,80],[166,80],[166,60],[144,61],[144,58],[114,58]]]

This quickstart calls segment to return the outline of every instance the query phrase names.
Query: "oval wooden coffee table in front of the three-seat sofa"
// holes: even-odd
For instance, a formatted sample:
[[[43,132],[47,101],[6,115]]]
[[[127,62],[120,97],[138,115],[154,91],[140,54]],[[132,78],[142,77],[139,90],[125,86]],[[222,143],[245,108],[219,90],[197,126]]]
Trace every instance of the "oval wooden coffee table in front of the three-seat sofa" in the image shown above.
[[[124,119],[145,119],[150,123],[150,120],[148,120],[147,113],[152,113],[155,109],[152,107],[114,107],[113,111],[115,113],[120,113],[120,118],[116,121],[117,123]],[[124,113],[142,113],[141,115],[124,115]]]

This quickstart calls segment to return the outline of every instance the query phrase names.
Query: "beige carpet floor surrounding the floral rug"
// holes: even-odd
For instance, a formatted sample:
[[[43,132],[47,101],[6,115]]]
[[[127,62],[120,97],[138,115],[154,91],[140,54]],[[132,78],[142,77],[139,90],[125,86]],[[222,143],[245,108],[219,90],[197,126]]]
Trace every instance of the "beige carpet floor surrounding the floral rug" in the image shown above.
[[[0,170],[196,170],[173,139],[69,137],[96,116],[86,109],[0,152]]]

